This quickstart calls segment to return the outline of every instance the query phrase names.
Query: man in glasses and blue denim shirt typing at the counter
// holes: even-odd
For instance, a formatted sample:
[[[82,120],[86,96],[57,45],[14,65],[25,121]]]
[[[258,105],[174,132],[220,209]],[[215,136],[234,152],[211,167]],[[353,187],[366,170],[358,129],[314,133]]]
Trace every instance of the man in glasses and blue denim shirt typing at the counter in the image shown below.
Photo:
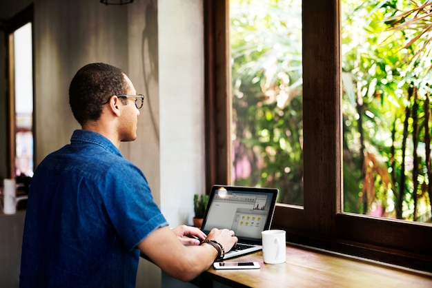
[[[112,65],[86,65],[72,79],[69,103],[82,129],[32,178],[21,287],[135,287],[139,251],[188,281],[237,243],[228,229],[206,236],[168,227],[146,177],[119,152],[121,141],[137,138],[143,101]]]

